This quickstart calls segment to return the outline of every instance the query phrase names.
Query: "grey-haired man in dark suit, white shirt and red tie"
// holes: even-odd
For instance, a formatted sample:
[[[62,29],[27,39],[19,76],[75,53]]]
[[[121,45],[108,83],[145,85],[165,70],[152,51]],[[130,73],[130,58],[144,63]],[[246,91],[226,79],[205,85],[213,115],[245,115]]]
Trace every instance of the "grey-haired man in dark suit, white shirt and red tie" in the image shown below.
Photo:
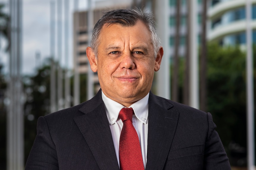
[[[150,92],[163,56],[151,14],[105,13],[86,53],[101,90],[38,119],[26,170],[230,169],[211,114]]]

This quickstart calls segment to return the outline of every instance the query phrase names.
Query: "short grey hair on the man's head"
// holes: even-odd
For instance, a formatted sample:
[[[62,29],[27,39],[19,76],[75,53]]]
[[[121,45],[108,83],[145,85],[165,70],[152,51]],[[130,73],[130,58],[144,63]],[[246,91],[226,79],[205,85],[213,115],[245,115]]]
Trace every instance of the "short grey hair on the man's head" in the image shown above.
[[[137,21],[142,21],[147,27],[151,34],[151,42],[154,47],[154,57],[156,59],[158,50],[161,46],[160,38],[157,35],[157,30],[155,27],[154,16],[151,12],[145,12],[141,9],[114,9],[105,12],[103,16],[98,20],[94,26],[92,38],[91,38],[91,48],[97,57],[98,46],[99,46],[99,34],[102,27],[107,24],[119,24],[121,26],[134,26]]]

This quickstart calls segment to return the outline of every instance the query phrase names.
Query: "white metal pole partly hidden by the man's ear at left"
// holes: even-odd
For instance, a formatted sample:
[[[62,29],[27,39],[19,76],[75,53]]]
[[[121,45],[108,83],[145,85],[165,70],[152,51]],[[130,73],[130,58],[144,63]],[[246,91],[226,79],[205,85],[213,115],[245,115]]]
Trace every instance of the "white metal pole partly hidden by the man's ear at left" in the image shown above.
[[[92,2],[88,0],[88,44],[91,44],[91,35],[93,30],[93,9]],[[93,72],[90,68],[90,63],[88,62],[88,77],[87,77],[87,100],[90,100],[94,95],[94,80]]]

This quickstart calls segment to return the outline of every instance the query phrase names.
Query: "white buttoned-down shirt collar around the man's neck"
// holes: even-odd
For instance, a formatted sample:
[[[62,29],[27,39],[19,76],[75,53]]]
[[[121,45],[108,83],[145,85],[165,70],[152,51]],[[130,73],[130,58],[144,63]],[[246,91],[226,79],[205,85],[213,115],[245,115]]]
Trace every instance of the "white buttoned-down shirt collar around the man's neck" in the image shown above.
[[[148,122],[148,98],[149,98],[149,93],[144,98],[140,99],[139,101],[133,103],[130,106],[134,110],[135,116],[144,124],[147,124]],[[117,121],[118,114],[120,110],[124,108],[124,106],[108,98],[103,92],[102,92],[102,100],[105,104],[105,110],[107,113],[108,122],[110,125],[112,125]]]

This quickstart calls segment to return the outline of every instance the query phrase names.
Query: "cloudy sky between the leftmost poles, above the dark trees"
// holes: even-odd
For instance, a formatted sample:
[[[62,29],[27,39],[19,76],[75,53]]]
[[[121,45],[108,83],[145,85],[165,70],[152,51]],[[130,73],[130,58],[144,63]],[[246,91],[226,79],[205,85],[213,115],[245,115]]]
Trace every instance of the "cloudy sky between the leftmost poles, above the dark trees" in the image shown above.
[[[35,54],[50,55],[50,1],[23,1],[23,73],[34,72]]]

